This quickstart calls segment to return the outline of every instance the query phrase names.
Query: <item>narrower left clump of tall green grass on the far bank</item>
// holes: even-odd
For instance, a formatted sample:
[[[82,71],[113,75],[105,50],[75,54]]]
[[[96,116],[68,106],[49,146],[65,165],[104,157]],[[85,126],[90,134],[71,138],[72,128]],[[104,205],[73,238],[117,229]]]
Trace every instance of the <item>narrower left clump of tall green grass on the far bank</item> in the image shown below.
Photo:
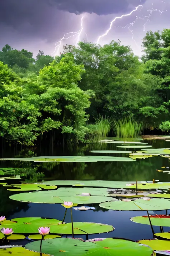
[[[109,117],[103,118],[103,116],[100,116],[98,119],[95,118],[95,125],[97,126],[100,136],[105,138],[111,130],[112,122]]]

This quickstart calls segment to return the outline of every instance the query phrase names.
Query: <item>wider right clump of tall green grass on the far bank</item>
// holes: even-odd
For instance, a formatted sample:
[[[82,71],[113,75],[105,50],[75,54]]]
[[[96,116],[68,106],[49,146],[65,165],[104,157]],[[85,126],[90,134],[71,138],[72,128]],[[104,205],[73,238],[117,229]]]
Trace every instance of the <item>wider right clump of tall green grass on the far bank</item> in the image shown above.
[[[142,121],[136,121],[132,118],[112,122],[113,131],[118,138],[136,138],[142,134],[144,125]]]

